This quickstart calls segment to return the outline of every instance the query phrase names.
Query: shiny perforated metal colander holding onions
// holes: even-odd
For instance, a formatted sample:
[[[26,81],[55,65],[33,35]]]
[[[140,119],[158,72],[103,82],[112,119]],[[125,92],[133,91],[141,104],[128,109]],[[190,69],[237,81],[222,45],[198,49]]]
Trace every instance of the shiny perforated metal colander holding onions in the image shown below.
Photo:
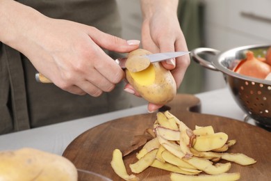
[[[245,58],[246,52],[252,51],[255,56],[265,56],[271,45],[249,45],[237,47],[227,52],[211,48],[197,48],[192,50],[194,61],[210,70],[220,71],[229,86],[234,100],[243,111],[255,120],[256,124],[271,129],[271,81],[247,77],[233,72],[232,69]],[[206,56],[213,54],[211,61]],[[204,58],[203,58],[204,57]]]

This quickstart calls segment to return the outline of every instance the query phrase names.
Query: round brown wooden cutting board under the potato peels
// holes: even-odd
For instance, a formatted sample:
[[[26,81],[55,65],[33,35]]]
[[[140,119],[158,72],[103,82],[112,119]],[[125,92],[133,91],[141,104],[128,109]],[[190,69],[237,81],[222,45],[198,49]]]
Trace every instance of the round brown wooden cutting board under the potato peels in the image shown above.
[[[229,173],[240,172],[240,180],[270,180],[270,132],[231,118],[191,112],[200,109],[200,101],[193,95],[177,95],[167,106],[170,107],[170,113],[191,129],[194,129],[195,125],[212,125],[215,132],[225,132],[229,139],[237,140],[229,152],[242,152],[257,161],[252,166],[232,163]],[[151,128],[155,120],[156,113],[150,113],[119,118],[98,125],[74,139],[65,149],[63,156],[71,160],[76,168],[99,173],[112,180],[121,180],[110,166],[113,150],[115,148],[126,150],[134,136],[143,134],[145,129]],[[129,164],[136,161],[136,152],[124,157],[129,174],[131,174]],[[147,168],[136,175],[140,180],[170,180],[170,172],[157,168]],[[84,177],[79,173],[80,180],[84,180]]]

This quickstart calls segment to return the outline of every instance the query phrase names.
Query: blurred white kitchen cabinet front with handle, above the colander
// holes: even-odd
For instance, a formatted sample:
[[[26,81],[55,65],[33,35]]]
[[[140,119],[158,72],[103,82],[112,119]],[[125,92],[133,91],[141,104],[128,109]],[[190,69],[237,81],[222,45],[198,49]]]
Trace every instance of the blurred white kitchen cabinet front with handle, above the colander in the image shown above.
[[[227,50],[271,42],[270,0],[205,0],[206,45]]]

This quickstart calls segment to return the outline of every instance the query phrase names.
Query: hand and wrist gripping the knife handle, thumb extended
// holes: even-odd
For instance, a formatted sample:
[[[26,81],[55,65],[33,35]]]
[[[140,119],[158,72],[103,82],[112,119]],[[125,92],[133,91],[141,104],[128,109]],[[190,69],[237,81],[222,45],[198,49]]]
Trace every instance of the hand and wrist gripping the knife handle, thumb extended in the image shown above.
[[[0,24],[13,29],[0,30],[0,40],[22,52],[40,73],[70,93],[97,97],[112,91],[124,71],[102,49],[126,53],[139,47],[138,40],[126,41],[92,26],[45,17],[15,1],[4,0],[0,5]]]

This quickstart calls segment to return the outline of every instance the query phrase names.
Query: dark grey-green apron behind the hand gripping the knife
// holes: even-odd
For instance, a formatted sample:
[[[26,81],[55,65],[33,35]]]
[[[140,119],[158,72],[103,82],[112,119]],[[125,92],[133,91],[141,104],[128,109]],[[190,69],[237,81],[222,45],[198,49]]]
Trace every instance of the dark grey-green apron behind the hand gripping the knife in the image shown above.
[[[120,17],[113,0],[22,0],[48,17],[69,19],[120,36]],[[113,52],[107,52],[116,58]],[[35,81],[28,59],[0,42],[0,134],[40,127],[130,107],[118,84],[100,97],[73,95],[54,84]]]

